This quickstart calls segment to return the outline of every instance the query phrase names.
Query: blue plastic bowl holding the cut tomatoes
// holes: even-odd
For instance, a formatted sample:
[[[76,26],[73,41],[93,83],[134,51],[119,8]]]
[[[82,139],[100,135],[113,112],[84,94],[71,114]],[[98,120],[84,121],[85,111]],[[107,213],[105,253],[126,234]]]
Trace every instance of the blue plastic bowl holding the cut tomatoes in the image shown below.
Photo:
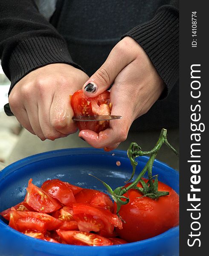
[[[117,166],[116,161],[121,165]],[[138,157],[136,173],[145,165],[148,157]],[[132,172],[125,151],[104,152],[94,148],[71,148],[49,151],[26,157],[7,166],[0,172],[0,212],[20,201],[26,194],[28,180],[37,186],[46,179],[69,181],[77,186],[100,189],[104,186],[91,173],[104,180],[112,188],[121,186]],[[155,160],[153,175],[179,193],[179,173]],[[0,256],[177,256],[179,255],[179,227],[151,239],[113,246],[75,246],[56,244],[23,235],[0,219]]]

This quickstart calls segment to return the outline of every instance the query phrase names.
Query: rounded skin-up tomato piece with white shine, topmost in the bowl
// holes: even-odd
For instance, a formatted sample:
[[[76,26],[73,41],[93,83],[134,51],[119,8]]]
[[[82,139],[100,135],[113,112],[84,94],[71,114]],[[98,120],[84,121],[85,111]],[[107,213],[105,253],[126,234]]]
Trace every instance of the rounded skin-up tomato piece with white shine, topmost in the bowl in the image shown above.
[[[42,184],[41,189],[43,189],[53,198],[56,198],[61,202],[61,204],[71,206],[73,203],[75,203],[75,197],[72,190],[66,183],[61,180],[46,180]]]

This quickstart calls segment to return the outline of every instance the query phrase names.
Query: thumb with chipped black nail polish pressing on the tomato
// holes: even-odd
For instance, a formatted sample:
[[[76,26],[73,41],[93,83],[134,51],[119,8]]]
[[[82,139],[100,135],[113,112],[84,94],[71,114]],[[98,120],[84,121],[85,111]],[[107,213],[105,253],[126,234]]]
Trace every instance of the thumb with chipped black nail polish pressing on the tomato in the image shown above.
[[[107,90],[121,72],[132,61],[122,47],[115,46],[107,60],[84,84],[82,90],[88,97],[96,97]]]

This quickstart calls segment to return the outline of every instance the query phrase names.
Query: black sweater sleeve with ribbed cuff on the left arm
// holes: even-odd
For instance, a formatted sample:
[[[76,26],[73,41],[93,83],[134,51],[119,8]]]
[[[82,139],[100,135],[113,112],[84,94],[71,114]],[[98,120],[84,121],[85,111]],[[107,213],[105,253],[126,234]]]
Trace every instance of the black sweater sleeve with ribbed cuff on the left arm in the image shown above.
[[[38,67],[71,64],[64,38],[38,12],[33,0],[0,0],[0,58],[3,71],[14,85]]]

